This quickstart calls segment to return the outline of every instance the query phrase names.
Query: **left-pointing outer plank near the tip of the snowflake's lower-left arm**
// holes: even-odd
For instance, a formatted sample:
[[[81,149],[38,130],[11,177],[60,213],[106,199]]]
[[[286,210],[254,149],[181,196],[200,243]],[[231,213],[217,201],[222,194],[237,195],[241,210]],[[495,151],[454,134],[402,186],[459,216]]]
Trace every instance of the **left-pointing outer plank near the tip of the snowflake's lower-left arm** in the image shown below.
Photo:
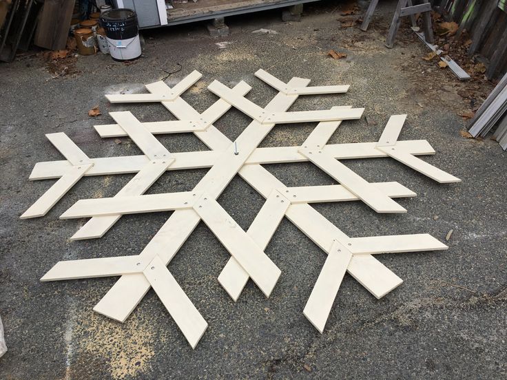
[[[57,262],[41,281],[61,281],[92,277],[119,276],[141,273],[149,260],[139,256],[100,257],[96,259]]]

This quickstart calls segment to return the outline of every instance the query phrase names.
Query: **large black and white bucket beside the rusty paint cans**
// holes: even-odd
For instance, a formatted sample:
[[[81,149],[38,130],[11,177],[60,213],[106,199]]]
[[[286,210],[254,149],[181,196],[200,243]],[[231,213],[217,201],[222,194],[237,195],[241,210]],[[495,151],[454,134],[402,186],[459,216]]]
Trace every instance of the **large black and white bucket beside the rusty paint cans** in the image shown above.
[[[120,8],[101,14],[101,25],[115,61],[131,61],[141,56],[141,41],[134,10]]]

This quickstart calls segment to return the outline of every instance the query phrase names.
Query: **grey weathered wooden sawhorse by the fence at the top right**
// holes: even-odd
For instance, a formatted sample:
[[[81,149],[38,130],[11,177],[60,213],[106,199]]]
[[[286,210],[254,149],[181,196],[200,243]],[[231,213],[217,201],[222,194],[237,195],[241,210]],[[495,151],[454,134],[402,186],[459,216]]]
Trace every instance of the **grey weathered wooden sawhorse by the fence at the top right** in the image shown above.
[[[364,20],[362,21],[361,30],[366,30],[373,16],[375,8],[377,8],[378,0],[371,0],[366,14],[364,14]],[[422,13],[423,18],[423,29],[424,39],[426,42],[433,43],[433,28],[431,26],[431,4],[428,0],[422,0],[422,3],[417,6],[412,5],[412,0],[399,0],[396,10],[394,12],[393,21],[391,22],[391,28],[387,33],[386,46],[393,47],[394,39],[398,28],[400,28],[401,17],[410,16],[412,26],[415,26],[414,14]]]

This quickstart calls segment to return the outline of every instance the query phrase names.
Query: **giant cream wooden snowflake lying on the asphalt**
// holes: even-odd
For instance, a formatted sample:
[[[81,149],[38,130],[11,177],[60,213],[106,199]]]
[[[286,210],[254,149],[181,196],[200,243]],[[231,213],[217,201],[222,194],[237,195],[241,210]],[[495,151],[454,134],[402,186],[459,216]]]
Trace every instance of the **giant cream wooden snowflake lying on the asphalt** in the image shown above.
[[[146,85],[149,94],[107,95],[111,103],[161,103],[178,119],[143,123],[130,112],[111,112],[114,124],[95,126],[103,138],[130,137],[142,155],[90,158],[65,134],[46,135],[65,160],[35,165],[30,180],[57,180],[21,218],[36,218],[48,213],[83,176],[125,173],[134,176],[116,196],[79,200],[61,215],[62,219],[90,218],[70,240],[102,237],[122,215],[172,213],[138,255],[57,262],[41,281],[119,276],[118,282],[94,310],[121,322],[153,288],[190,346],[195,348],[207,328],[207,321],[167,265],[201,221],[231,255],[218,275],[218,283],[234,302],[249,279],[266,297],[271,295],[281,270],[265,249],[283,218],[315,242],[326,253],[327,260],[303,314],[321,333],[346,272],[380,299],[399,286],[402,279],[373,255],[448,248],[428,233],[349,237],[310,205],[362,201],[377,213],[406,212],[393,198],[413,197],[416,195],[413,191],[398,182],[369,182],[342,164],[341,160],[347,159],[391,157],[436,182],[459,182],[459,178],[416,157],[435,154],[426,140],[398,139],[406,115],[391,116],[378,141],[328,144],[342,121],[361,118],[364,108],[342,105],[317,111],[287,112],[287,109],[298,96],[344,93],[349,89],[348,85],[309,87],[309,79],[304,78],[292,78],[284,83],[264,70],[258,70],[256,76],[278,91],[266,107],[245,97],[251,86],[244,81],[234,88],[213,81],[207,88],[218,96],[218,100],[199,113],[181,95],[201,76],[194,71],[174,87],[163,81],[151,83]],[[229,140],[213,125],[231,107],[252,119],[235,141]],[[311,122],[316,123],[315,129],[301,146],[258,147],[276,124]],[[154,136],[185,132],[193,133],[209,150],[169,152]],[[263,164],[288,162],[312,162],[338,183],[286,187],[262,167]],[[209,168],[209,171],[192,191],[143,195],[165,171],[202,168]],[[247,231],[241,229],[217,202],[236,175],[266,199]],[[60,257],[64,257],[64,253]]]

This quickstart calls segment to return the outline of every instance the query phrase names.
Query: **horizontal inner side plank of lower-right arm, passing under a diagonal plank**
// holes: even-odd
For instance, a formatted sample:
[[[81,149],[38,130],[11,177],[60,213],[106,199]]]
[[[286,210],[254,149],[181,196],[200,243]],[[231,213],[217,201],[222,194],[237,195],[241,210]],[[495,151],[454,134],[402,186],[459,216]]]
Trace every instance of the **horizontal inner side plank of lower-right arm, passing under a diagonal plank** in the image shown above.
[[[390,198],[415,197],[417,194],[398,182],[373,183],[375,188]],[[289,187],[292,203],[346,202],[359,200],[358,196],[341,184],[326,186]]]

